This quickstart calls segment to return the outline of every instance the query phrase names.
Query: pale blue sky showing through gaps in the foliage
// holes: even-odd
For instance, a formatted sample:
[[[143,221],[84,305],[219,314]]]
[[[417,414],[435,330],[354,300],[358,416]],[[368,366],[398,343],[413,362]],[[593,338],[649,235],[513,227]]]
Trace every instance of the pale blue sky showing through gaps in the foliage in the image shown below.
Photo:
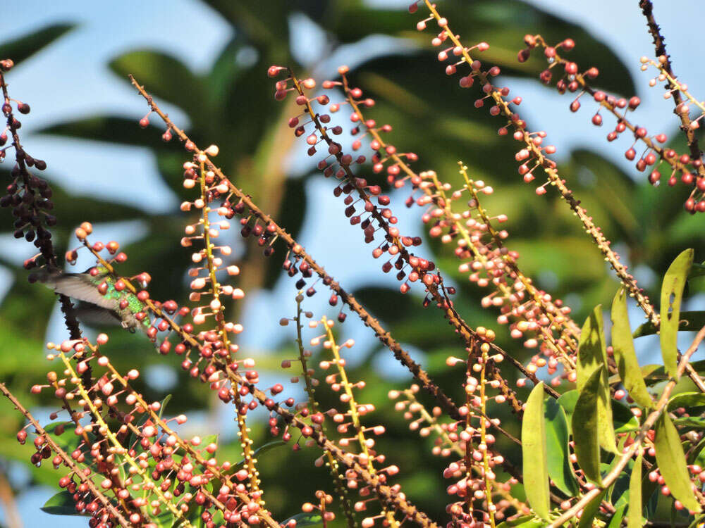
[[[407,5],[390,0],[374,0],[371,4]],[[532,0],[533,4],[571,20],[580,25],[589,26],[589,30],[610,44],[631,69],[637,84],[637,94],[642,98],[639,108],[639,124],[649,131],[673,132],[676,120],[673,117],[673,105],[664,101],[661,89],[649,89],[649,75],[639,70],[639,57],[653,53],[651,39],[646,34],[644,19],[638,13],[637,0],[592,2]],[[668,51],[675,57],[675,71],[681,73],[695,94],[705,93],[705,70],[701,64],[701,43],[697,30],[683,29],[683,20],[690,16],[701,20],[702,4],[697,0],[676,1],[657,0],[656,17],[666,34]],[[36,152],[49,161],[51,175],[77,194],[106,194],[113,199],[135,203],[133,189],[149,189],[140,194],[142,206],[152,210],[169,210],[176,206],[176,199],[159,180],[154,170],[152,156],[147,149],[106,146],[92,142],[71,142],[64,139],[39,137],[32,135],[39,127],[75,119],[97,113],[121,113],[133,116],[135,120],[145,113],[142,99],[125,83],[116,80],[109,72],[106,63],[123,51],[134,48],[151,47],[168,51],[182,57],[195,70],[207,70],[214,54],[227,42],[230,27],[223,23],[219,15],[197,0],[122,0],[119,2],[94,2],[74,0],[54,2],[46,0],[11,0],[3,6],[0,18],[0,39],[11,39],[37,27],[58,21],[78,23],[78,27],[63,37],[51,48],[45,50],[18,68],[11,77],[13,94],[29,102],[32,106],[30,119],[23,122],[24,143],[32,153]],[[317,60],[316,56],[304,55],[304,44],[315,42],[321,34],[299,20],[302,28],[293,39],[298,42],[302,58]],[[520,36],[519,36],[520,37]],[[517,37],[518,38],[518,37]],[[580,45],[580,42],[577,43]],[[296,44],[295,44],[296,45]],[[369,52],[363,47],[360,53]],[[316,46],[312,46],[316,49]],[[311,49],[309,47],[309,49]],[[329,61],[326,61],[329,63]],[[332,62],[330,62],[332,63]],[[337,62],[335,62],[337,64]],[[522,108],[525,118],[537,129],[548,132],[548,139],[558,146],[558,160],[561,153],[568,153],[572,147],[581,145],[601,149],[605,156],[618,163],[633,174],[634,171],[624,159],[620,144],[606,147],[605,130],[596,129],[589,123],[587,111],[573,115],[568,111],[568,100],[556,96],[554,92],[541,89],[536,82],[527,80],[508,80],[513,94],[520,94],[524,99]],[[535,109],[539,108],[540,111]],[[184,122],[183,115],[175,108],[167,108],[173,118]],[[569,123],[569,126],[565,126]],[[100,172],[96,173],[99,167]],[[326,254],[326,268],[341,279],[350,289],[363,281],[369,283],[381,277],[372,259],[360,258],[354,270],[345,266],[345,262],[336,255],[346,251],[360,251],[366,254],[362,242],[360,247],[350,246],[350,239],[339,237],[336,232],[344,227],[338,223],[337,204],[328,198],[329,187],[314,180],[308,189],[309,215],[305,220],[302,242],[314,255]],[[323,198],[325,199],[317,199]],[[334,208],[334,210],[333,210]],[[406,210],[398,213],[400,222],[405,225],[415,224],[415,213]],[[317,218],[332,219],[317,222]],[[97,219],[93,219],[97,220]],[[121,234],[126,240],[124,226],[105,227],[104,239]],[[7,240],[0,239],[0,250],[7,247]],[[354,244],[353,244],[354,245]],[[18,253],[13,245],[13,252]],[[24,258],[17,254],[17,258]],[[0,274],[0,294],[2,293],[2,275]],[[272,301],[287,298],[290,301],[290,284],[279,284],[271,294],[252,296],[248,301],[250,322],[264,313]],[[321,296],[319,299],[325,302]],[[315,308],[315,307],[314,307]],[[245,322],[247,327],[247,322]],[[52,325],[49,332],[60,332],[58,325]],[[244,346],[252,349],[266,348],[268,341],[257,338],[255,334],[243,334]],[[275,336],[276,337],[276,336]],[[362,344],[369,343],[371,337],[364,329],[353,329],[353,335]],[[56,337],[54,337],[56,339]],[[269,337],[271,341],[271,336]],[[386,369],[393,370],[391,364],[385,363]],[[16,474],[21,477],[21,472]],[[47,498],[49,490],[35,491],[18,498],[23,520],[27,526],[51,522],[56,527],[84,526],[85,520],[71,517],[47,517],[39,511]]]

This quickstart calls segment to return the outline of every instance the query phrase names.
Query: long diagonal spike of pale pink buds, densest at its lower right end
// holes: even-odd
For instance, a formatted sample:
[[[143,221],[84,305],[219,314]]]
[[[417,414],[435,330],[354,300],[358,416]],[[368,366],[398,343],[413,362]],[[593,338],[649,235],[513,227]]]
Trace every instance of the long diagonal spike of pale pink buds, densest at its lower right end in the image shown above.
[[[369,136],[370,145],[376,151],[375,172],[382,172],[386,168],[388,182],[396,188],[410,182],[412,193],[406,201],[407,206],[416,203],[426,208],[422,219],[430,226],[431,237],[440,237],[443,243],[457,241],[455,253],[465,260],[461,271],[472,271],[471,281],[482,287],[491,286],[496,289],[483,299],[482,304],[486,307],[501,308],[503,314],[498,318],[501,324],[510,322],[512,318],[513,337],[518,339],[526,333],[538,333],[539,337],[547,341],[546,346],[541,345],[541,350],[547,353],[548,360],[535,356],[532,363],[539,363],[541,366],[548,364],[549,373],[553,375],[558,362],[550,356],[555,355],[561,358],[568,370],[574,370],[572,359],[563,356],[574,355],[577,341],[570,335],[560,336],[561,332],[576,334],[578,331],[568,316],[570,309],[563,306],[559,299],[554,301],[550,294],[534,287],[531,279],[525,277],[517,268],[518,254],[508,251],[502,244],[508,233],[505,230],[496,231],[491,225],[493,220],[500,224],[505,222],[507,216],[489,218],[479,205],[479,194],[491,194],[492,187],[484,182],[472,182],[467,177],[467,168],[462,165],[461,174],[465,177],[466,185],[452,192],[450,184],[441,183],[435,172],[418,174],[412,170],[410,163],[417,161],[416,154],[401,153],[382,138],[381,134],[391,132],[391,126],[379,126],[373,119],[364,118],[362,108],[374,106],[374,101],[362,99],[360,89],[351,88],[348,84],[345,70],[341,73],[341,82],[326,81],[324,87],[343,87],[345,103],[353,108],[351,120],[358,123],[352,130],[353,135]],[[541,132],[536,135],[541,139],[546,134]],[[353,148],[356,146],[359,148],[360,139],[355,140]],[[527,175],[527,181],[530,181],[529,178],[533,179],[533,176]],[[543,187],[540,189],[544,190]],[[467,196],[466,192],[470,196]],[[416,198],[417,193],[421,196]],[[455,213],[453,203],[463,196],[470,199],[467,201],[468,208],[462,213]],[[517,328],[517,325],[520,325],[521,329]],[[554,329],[558,332],[558,337],[553,336]],[[534,337],[525,339],[525,345],[529,348],[535,348],[539,343],[541,341]],[[556,383],[558,381],[559,379],[556,379]]]

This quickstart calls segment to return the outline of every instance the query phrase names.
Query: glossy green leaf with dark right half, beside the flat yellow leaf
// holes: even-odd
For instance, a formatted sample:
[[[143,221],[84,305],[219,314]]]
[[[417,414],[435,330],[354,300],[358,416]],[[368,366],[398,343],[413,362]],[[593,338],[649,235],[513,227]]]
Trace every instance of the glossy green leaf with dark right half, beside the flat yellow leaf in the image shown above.
[[[544,401],[544,423],[546,425],[546,453],[548,453],[548,477],[567,496],[580,493],[570,464],[568,451],[568,422],[563,407],[553,398]]]

